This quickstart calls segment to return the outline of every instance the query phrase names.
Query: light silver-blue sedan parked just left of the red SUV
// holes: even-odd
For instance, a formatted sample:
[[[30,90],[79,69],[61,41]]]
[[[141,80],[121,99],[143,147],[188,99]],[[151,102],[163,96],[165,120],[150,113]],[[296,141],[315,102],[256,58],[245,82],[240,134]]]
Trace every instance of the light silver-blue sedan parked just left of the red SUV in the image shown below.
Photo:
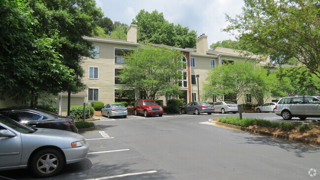
[[[120,103],[106,104],[101,109],[101,115],[106,115],[108,118],[111,118],[112,116],[123,116],[126,118],[128,115],[128,109]]]

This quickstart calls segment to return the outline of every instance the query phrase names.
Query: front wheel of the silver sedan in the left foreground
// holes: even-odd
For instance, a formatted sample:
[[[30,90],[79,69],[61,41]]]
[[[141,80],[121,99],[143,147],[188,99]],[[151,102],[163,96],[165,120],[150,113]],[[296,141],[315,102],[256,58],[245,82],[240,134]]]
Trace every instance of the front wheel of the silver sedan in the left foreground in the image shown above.
[[[30,161],[33,174],[39,178],[57,175],[64,167],[64,156],[56,149],[42,149],[36,152]]]

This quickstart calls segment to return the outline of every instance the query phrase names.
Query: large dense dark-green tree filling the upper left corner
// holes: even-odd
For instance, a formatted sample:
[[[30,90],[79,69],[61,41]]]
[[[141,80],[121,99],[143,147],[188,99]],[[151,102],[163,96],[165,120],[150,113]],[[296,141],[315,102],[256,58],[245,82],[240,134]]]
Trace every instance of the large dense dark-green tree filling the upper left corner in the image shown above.
[[[73,80],[73,70],[56,52],[56,34],[37,36],[40,25],[28,3],[1,0],[0,14],[0,98],[34,107],[40,94],[62,91],[63,82]]]

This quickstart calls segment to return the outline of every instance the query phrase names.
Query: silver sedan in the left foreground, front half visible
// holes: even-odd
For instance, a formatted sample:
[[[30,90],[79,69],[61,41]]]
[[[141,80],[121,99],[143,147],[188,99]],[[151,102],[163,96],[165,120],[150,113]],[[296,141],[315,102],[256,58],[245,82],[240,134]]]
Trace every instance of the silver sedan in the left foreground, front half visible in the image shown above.
[[[0,115],[0,171],[29,168],[37,177],[55,176],[64,164],[86,159],[88,151],[77,133],[35,129]]]

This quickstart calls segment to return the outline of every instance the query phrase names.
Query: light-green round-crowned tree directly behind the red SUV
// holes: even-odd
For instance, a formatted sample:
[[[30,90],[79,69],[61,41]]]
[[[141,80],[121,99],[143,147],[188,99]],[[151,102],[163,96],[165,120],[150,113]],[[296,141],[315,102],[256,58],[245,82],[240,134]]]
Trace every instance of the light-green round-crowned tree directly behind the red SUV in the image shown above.
[[[147,99],[157,100],[164,95],[180,93],[181,52],[167,47],[142,46],[128,53],[119,75],[123,89],[134,89]]]

